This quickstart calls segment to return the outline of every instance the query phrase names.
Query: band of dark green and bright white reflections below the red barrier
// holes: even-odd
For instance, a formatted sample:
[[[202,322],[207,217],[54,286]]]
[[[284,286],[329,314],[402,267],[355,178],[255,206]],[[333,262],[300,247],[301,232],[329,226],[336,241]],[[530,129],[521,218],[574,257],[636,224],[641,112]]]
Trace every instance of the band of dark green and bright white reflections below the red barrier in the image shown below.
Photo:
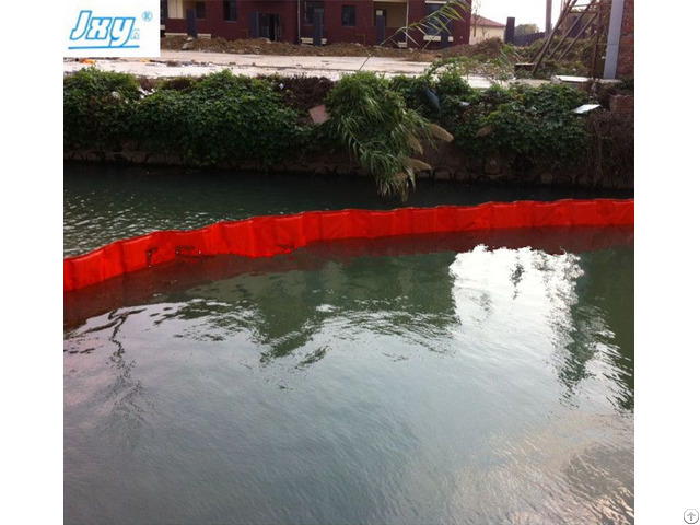
[[[314,258],[306,256],[295,262]],[[574,255],[481,245],[457,255],[308,266],[253,271],[161,295],[168,306],[152,313],[152,323],[194,322],[175,337],[198,341],[248,334],[262,365],[290,359],[290,370],[308,369],[334,351],[337,341],[316,340],[329,326],[338,340],[372,327],[377,336],[446,354],[477,339],[505,348],[501,339],[506,338],[513,350],[555,368],[563,402],[587,396],[588,382],[611,381],[609,401],[633,409],[632,248]],[[625,273],[611,271],[615,267]],[[527,334],[520,349],[518,332]]]

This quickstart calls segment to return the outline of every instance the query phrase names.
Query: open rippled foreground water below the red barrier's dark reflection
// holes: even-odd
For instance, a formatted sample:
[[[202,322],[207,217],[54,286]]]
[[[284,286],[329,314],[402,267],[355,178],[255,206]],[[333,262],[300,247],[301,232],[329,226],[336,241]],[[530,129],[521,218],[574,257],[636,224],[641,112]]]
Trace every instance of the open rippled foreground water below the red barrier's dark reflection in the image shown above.
[[[67,515],[138,492],[175,523],[629,523],[631,254],[323,261],[89,319]]]

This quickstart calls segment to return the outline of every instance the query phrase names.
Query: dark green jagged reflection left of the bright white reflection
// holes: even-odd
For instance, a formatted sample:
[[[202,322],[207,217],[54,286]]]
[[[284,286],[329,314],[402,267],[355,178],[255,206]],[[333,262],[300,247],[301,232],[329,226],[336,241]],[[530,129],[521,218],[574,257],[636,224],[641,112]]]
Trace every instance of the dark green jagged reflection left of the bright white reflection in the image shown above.
[[[198,319],[183,337],[223,340],[250,330],[262,350],[260,362],[295,355],[296,365],[319,361],[332,345],[313,347],[326,323],[338,338],[352,338],[353,327],[372,326],[377,335],[419,341],[442,351],[440,340],[457,323],[450,290],[452,254],[327,262],[317,271],[249,273],[186,291],[196,298],[163,314],[166,319]],[[377,278],[378,277],[378,278]]]

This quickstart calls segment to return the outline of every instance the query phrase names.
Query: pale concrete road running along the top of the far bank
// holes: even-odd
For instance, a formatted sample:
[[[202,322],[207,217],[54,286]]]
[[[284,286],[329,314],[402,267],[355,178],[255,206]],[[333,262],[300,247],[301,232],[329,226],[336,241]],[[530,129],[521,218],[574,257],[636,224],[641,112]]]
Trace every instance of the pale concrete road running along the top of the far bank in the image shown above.
[[[129,72],[150,78],[198,77],[230,69],[234,74],[257,77],[258,74],[280,74],[285,77],[327,77],[338,80],[345,73],[352,73],[362,67],[363,57],[287,57],[271,55],[233,55],[223,52],[163,50],[158,58],[95,59],[94,63],[65,59],[63,71],[74,72],[94,65],[104,71]],[[416,62],[398,58],[372,57],[363,70],[384,73],[386,77],[406,74],[418,77],[430,62]],[[469,75],[467,81],[474,88],[488,88],[491,82],[483,77]]]

